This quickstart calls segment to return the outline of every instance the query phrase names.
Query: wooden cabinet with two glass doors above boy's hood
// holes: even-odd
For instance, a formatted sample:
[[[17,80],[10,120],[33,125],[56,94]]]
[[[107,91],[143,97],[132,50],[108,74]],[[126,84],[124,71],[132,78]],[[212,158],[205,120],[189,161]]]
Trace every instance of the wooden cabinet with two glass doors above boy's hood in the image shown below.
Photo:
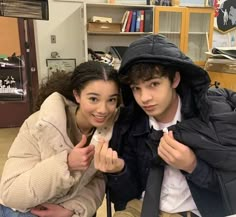
[[[155,7],[154,32],[165,35],[196,64],[204,65],[212,46],[214,9]]]

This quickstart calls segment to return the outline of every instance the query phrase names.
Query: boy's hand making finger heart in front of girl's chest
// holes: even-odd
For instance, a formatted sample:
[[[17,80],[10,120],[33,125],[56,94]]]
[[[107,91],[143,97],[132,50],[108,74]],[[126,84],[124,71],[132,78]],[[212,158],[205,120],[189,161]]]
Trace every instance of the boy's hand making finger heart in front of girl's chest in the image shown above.
[[[118,157],[117,152],[108,148],[108,142],[100,139],[95,147],[95,168],[106,173],[117,173],[123,170],[124,165],[124,160]]]

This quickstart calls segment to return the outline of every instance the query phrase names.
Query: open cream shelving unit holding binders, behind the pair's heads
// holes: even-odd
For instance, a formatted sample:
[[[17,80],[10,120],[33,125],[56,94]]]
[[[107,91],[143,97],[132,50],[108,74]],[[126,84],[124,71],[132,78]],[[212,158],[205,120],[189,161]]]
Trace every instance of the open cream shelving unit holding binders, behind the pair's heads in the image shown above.
[[[87,31],[88,21],[92,16],[111,17],[113,23],[120,23],[127,10],[152,10],[152,5],[121,5],[106,3],[84,3],[82,5],[82,19],[84,32],[84,60],[88,60],[88,48],[94,51],[109,52],[110,46],[128,46],[138,37],[151,32],[92,32]],[[154,16],[153,16],[154,17]],[[152,20],[153,21],[153,20]]]

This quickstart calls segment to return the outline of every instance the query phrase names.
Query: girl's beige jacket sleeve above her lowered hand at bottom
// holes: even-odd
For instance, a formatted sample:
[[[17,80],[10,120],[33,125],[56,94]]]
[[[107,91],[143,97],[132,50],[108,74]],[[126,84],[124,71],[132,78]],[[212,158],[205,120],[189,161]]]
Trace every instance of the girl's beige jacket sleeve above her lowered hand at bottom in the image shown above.
[[[77,196],[60,205],[68,210],[73,210],[75,216],[93,216],[101,206],[105,194],[105,180],[101,173],[84,186]]]

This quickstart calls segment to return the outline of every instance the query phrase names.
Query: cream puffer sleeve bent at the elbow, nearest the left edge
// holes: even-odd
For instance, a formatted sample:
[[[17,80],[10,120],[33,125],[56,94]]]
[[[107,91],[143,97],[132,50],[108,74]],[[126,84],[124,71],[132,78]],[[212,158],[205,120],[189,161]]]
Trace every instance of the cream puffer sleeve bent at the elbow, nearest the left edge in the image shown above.
[[[4,166],[0,185],[4,205],[25,211],[66,195],[75,181],[68,170],[67,154],[64,150],[42,160],[37,140],[25,121]]]

